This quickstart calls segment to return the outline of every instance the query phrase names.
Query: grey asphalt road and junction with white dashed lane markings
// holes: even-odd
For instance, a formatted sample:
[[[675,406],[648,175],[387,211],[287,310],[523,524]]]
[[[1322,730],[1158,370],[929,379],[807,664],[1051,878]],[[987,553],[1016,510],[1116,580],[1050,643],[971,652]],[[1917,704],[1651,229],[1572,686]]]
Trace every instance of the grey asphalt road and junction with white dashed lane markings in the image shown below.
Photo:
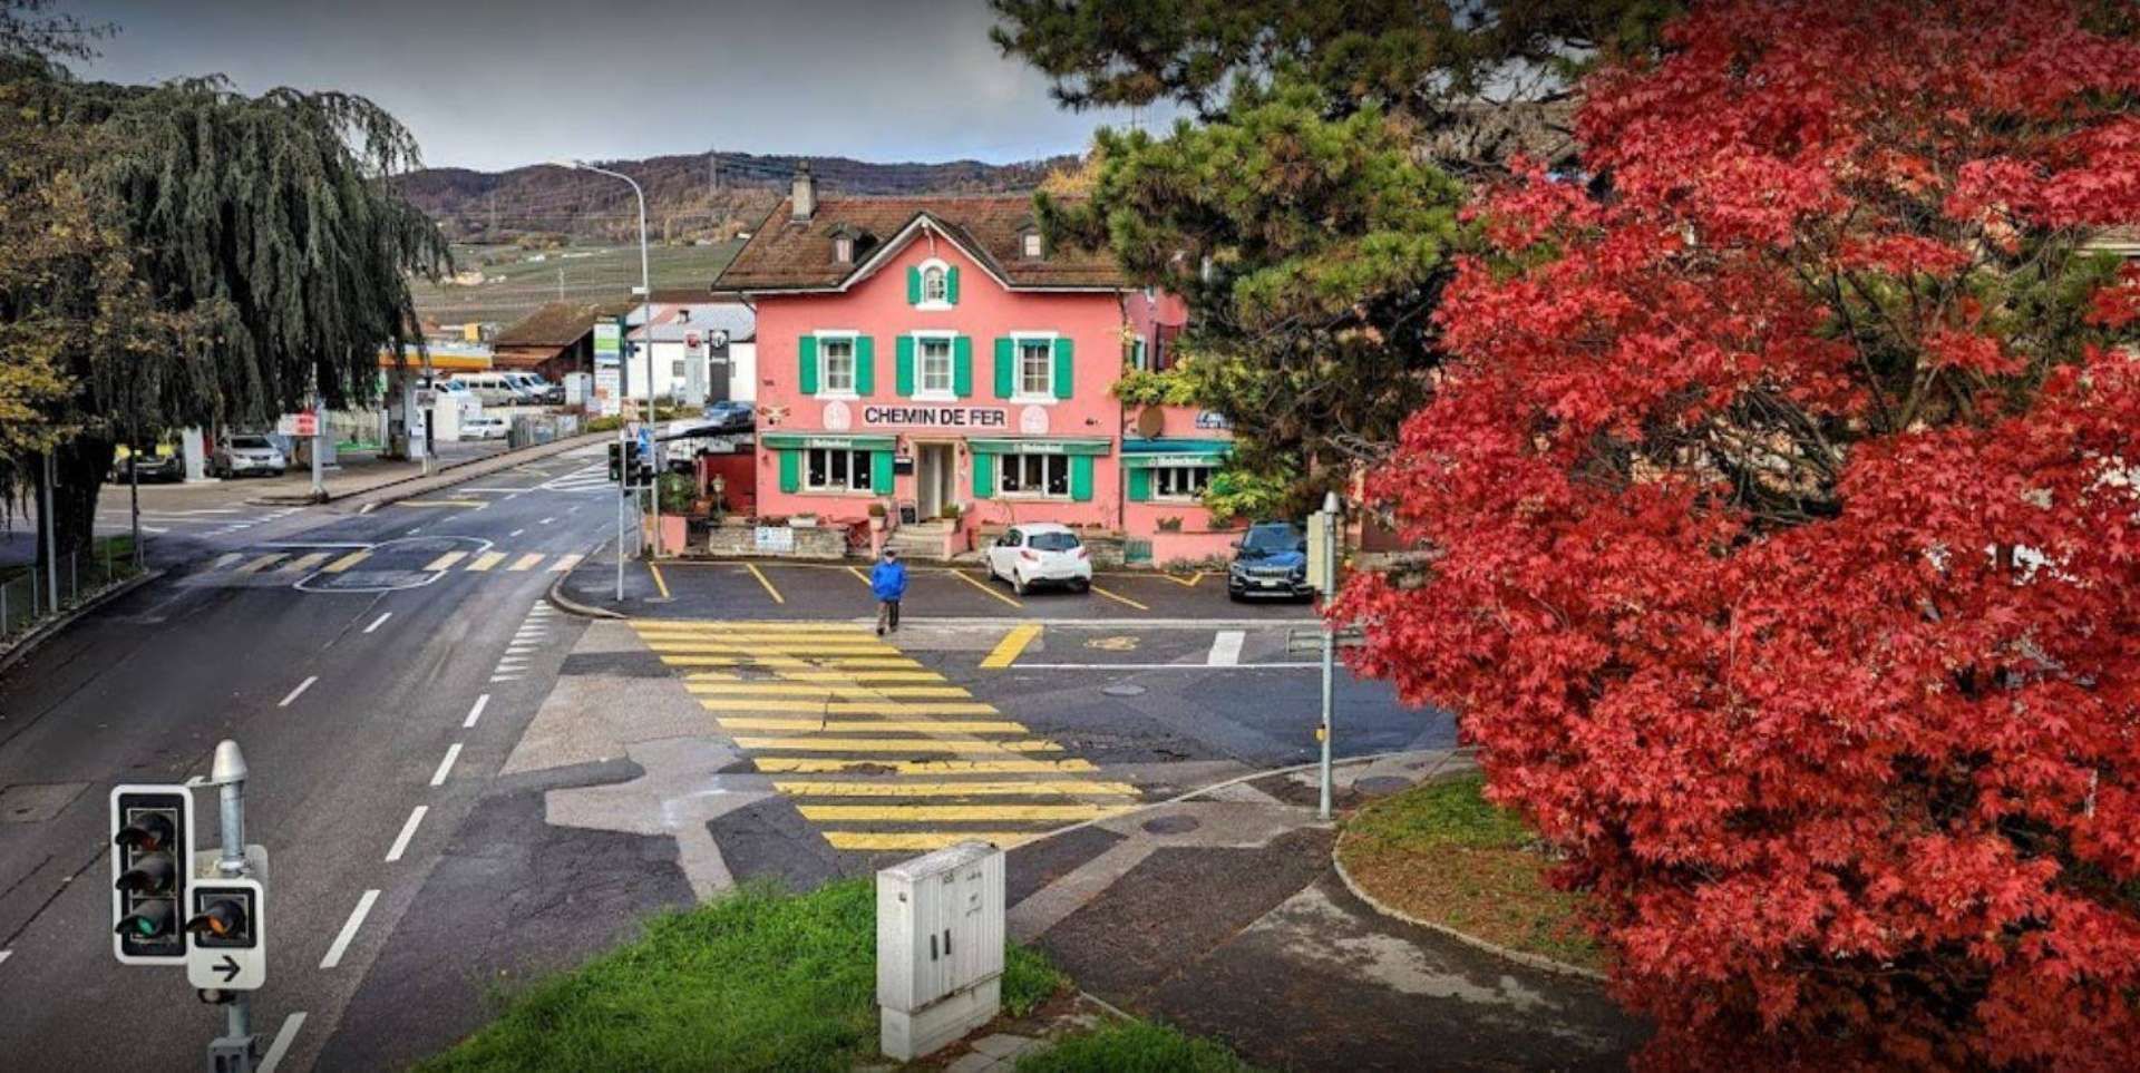
[[[582,449],[368,513],[201,536],[165,579],[0,678],[0,1064],[199,1069],[223,1013],[182,970],[111,960],[105,793],[205,776],[223,737],[253,765],[248,840],[274,855],[253,1030],[276,1069],[404,1067],[651,911],[738,881],[867,874],[931,838],[1008,831],[1002,814],[1025,838],[1072,810],[852,823],[882,812],[775,789],[785,763],[856,793],[837,782],[869,782],[875,759],[732,729],[785,725],[792,707],[706,705],[706,669],[678,665],[691,646],[659,624],[544,603],[559,573],[614,584],[608,560],[578,558],[614,528],[599,466]],[[869,613],[843,569],[633,562],[627,581],[633,613],[693,620],[685,633],[743,652],[779,648],[762,622]],[[1220,581],[1102,577],[1119,598],[1014,598],[922,571],[882,658],[991,712],[950,718],[1031,735],[1074,772],[1031,776],[1051,802],[1149,802],[1305,763],[1318,671],[1286,635],[1310,611],[1230,605]],[[1451,740],[1444,714],[1340,678],[1340,757]],[[214,812],[199,793],[203,842]]]

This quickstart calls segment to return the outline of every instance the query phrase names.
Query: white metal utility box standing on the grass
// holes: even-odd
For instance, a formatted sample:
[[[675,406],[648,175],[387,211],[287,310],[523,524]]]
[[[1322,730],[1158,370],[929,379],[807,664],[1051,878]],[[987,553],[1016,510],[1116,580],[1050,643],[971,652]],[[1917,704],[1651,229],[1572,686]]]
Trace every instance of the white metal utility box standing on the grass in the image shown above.
[[[920,1058],[995,1020],[1004,981],[1004,851],[959,842],[877,872],[884,1054]]]

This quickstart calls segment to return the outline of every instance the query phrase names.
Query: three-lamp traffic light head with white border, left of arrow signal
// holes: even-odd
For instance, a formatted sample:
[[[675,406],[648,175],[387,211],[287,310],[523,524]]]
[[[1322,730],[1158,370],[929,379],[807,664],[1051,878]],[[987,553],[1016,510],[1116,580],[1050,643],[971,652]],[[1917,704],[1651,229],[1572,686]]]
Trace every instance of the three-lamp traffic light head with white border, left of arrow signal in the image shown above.
[[[111,789],[111,953],[122,964],[182,964],[180,906],[193,870],[193,791]]]

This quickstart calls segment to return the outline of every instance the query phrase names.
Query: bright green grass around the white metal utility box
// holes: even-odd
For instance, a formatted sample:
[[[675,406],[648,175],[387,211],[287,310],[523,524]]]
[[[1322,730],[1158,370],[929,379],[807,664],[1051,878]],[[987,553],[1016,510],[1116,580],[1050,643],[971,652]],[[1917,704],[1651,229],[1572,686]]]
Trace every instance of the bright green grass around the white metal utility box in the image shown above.
[[[419,1069],[850,1069],[877,1049],[875,943],[867,878],[802,896],[747,887],[653,917],[623,947],[535,981]],[[1064,983],[1012,947],[1004,1007],[1023,1015]]]

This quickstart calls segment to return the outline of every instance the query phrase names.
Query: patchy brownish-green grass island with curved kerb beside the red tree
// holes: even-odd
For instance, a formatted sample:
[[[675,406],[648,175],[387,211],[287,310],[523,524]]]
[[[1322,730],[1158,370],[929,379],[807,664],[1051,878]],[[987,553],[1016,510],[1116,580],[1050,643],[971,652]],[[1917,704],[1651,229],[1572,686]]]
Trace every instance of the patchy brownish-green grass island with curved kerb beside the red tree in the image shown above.
[[[1579,923],[1581,893],[1547,885],[1537,836],[1483,787],[1468,774],[1374,802],[1346,821],[1338,855],[1361,887],[1412,917],[1603,970],[1605,951]]]

